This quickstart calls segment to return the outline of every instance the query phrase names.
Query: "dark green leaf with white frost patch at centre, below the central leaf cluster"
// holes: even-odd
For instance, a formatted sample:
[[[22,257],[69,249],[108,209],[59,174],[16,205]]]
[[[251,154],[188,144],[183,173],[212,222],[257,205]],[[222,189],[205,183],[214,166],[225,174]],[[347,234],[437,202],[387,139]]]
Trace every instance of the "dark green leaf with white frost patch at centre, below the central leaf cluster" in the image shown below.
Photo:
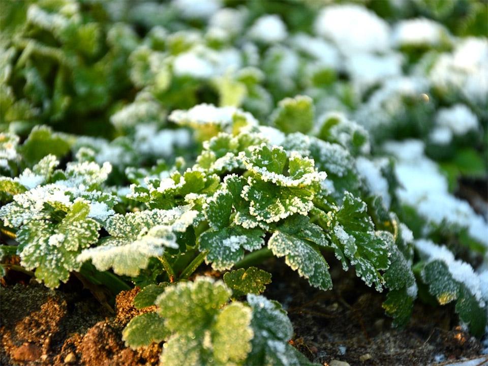
[[[232,268],[242,259],[244,250],[255,251],[264,244],[264,232],[260,229],[244,229],[239,226],[220,230],[205,231],[200,235],[198,248],[208,251],[205,263],[212,263],[212,268],[224,270]]]

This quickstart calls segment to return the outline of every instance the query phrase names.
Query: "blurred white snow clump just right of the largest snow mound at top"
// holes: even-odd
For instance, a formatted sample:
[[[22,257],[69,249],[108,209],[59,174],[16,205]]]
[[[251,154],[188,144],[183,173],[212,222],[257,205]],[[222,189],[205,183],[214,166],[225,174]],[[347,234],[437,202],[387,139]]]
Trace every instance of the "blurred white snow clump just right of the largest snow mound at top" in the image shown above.
[[[426,19],[407,19],[398,22],[392,34],[391,42],[401,46],[437,46],[447,36],[446,29],[438,22]]]

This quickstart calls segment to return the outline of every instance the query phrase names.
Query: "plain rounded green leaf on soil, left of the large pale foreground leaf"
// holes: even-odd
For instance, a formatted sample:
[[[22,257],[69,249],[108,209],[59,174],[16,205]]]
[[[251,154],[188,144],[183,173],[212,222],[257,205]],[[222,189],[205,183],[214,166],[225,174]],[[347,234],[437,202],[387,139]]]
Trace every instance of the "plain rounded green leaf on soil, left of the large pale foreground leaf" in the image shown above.
[[[122,340],[133,349],[159,343],[171,333],[164,326],[164,319],[156,313],[144,313],[131,319],[122,331]]]

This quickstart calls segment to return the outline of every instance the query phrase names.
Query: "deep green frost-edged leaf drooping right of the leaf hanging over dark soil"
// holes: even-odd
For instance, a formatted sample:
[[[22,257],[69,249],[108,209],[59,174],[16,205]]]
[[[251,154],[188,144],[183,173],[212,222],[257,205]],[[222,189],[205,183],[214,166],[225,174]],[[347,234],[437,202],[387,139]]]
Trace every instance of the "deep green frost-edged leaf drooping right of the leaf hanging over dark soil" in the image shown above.
[[[347,191],[342,207],[331,214],[329,224],[333,242],[355,266],[357,276],[368,286],[375,284],[382,291],[384,279],[380,270],[390,265],[393,235],[375,231],[367,205]]]

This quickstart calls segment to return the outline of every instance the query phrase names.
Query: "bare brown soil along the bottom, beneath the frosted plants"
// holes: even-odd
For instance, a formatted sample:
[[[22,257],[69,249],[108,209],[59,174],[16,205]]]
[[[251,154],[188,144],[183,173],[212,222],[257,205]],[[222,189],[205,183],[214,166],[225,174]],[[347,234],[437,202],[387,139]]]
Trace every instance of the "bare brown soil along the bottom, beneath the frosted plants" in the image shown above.
[[[384,294],[364,286],[352,270],[331,268],[335,286],[323,292],[311,288],[281,260],[271,259],[263,268],[274,268],[265,295],[287,309],[295,328],[290,343],[315,362],[423,365],[435,363],[436,355],[454,360],[480,354],[479,341],[456,327],[452,307],[418,303],[410,324],[392,329],[381,308]],[[218,272],[209,274],[220,277]],[[0,364],[158,364],[161,345],[134,351],[121,341],[121,330],[141,313],[132,306],[139,289],[120,293],[112,314],[76,280],[70,283],[75,285],[63,291],[35,283],[1,289]]]

